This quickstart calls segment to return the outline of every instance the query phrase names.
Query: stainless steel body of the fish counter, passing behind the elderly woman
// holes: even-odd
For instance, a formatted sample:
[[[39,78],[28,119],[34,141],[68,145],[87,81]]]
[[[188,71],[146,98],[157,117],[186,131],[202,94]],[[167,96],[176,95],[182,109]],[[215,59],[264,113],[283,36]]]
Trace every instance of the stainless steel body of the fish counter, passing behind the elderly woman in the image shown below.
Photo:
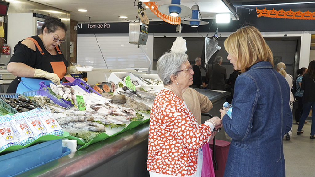
[[[231,93],[198,88],[196,90],[206,95],[213,103],[213,109],[209,113],[220,116],[219,109]],[[149,177],[146,170],[148,132],[147,122],[26,171],[17,177]]]

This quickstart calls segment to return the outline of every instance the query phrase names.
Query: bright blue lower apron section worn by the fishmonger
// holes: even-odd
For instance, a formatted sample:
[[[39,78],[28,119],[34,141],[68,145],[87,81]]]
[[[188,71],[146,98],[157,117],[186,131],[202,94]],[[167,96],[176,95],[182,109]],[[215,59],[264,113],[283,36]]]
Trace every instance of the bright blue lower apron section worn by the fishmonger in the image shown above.
[[[34,78],[21,77],[21,82],[16,88],[16,93],[23,94],[24,92],[38,90],[40,88],[39,82],[44,82],[45,85],[49,85],[49,83],[52,83],[51,80],[46,80],[46,79],[34,79]]]

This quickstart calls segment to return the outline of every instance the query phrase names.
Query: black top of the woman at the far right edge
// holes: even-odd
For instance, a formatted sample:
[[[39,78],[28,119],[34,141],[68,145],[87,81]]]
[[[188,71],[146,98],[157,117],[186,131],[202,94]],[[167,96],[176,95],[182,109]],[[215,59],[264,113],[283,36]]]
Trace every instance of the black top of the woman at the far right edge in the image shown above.
[[[303,93],[303,103],[315,103],[315,79],[311,79],[308,73],[303,75],[301,90]]]

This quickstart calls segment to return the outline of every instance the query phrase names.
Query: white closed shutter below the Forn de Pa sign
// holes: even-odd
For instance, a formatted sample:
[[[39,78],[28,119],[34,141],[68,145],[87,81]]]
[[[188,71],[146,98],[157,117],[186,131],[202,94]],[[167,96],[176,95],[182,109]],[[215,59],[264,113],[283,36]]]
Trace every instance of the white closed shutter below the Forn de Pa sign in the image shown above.
[[[109,69],[149,67],[150,62],[147,60],[142,50],[137,48],[137,45],[129,43],[128,34],[96,34],[96,38],[100,48],[94,34],[78,34],[78,64],[93,66],[94,68],[108,67]],[[149,35],[146,45],[141,47],[152,61],[153,35]]]

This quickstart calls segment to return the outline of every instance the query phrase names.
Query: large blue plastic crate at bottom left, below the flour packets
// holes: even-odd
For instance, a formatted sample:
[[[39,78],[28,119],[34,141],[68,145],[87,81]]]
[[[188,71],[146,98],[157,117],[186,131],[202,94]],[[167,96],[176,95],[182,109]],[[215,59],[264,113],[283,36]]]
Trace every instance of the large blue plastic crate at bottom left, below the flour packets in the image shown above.
[[[46,141],[0,156],[0,174],[11,177],[70,154],[61,139]]]

